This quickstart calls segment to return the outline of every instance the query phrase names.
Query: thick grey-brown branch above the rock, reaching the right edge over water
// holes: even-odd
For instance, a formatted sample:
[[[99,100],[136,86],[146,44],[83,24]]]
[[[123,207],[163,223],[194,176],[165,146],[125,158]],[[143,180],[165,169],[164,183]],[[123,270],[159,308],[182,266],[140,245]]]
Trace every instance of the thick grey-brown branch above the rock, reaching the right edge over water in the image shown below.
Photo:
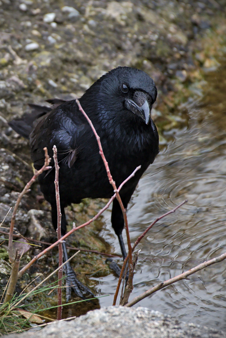
[[[187,270],[187,271],[179,274],[178,276],[175,276],[175,277],[169,279],[166,282],[162,282],[162,283],[157,284],[153,288],[151,288],[151,289],[147,290],[146,292],[142,293],[140,296],[137,296],[137,297],[133,298],[125,306],[131,307],[134,304],[138,303],[140,300],[144,299],[145,297],[150,296],[155,291],[160,290],[162,288],[165,288],[166,286],[171,285],[171,284],[173,284],[175,282],[178,282],[178,281],[180,281],[182,279],[185,279],[187,276],[190,276],[191,274],[193,274],[193,273],[195,273],[195,272],[197,272],[199,270],[202,270],[202,269],[204,269],[205,267],[207,267],[209,265],[212,265],[212,264],[215,264],[215,263],[219,263],[219,262],[223,261],[224,259],[226,259],[226,253],[222,254],[221,256],[218,256],[218,257],[215,257],[213,259],[210,259],[207,262],[203,262],[203,263],[195,266],[194,268],[192,268],[190,270]]]

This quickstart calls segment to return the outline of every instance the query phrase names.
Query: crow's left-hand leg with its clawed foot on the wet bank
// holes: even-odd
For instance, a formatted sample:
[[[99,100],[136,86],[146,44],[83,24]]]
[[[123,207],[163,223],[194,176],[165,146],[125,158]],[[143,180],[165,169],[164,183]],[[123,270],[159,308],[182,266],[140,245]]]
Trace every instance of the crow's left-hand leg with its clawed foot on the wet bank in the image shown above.
[[[67,221],[66,221],[66,216],[65,216],[65,211],[64,208],[62,208],[62,206],[60,207],[61,209],[61,236],[64,236],[67,232]],[[56,207],[54,206],[54,208],[52,207],[52,222],[53,222],[53,226],[56,229],[57,227],[57,211],[56,211]],[[67,247],[66,247],[66,241],[62,242],[62,247],[63,247],[63,252],[64,252],[64,260],[65,262],[68,260],[68,252],[67,252]],[[72,269],[70,262],[67,262],[66,264],[66,301],[68,302],[68,300],[71,298],[71,291],[73,290],[75,292],[75,294],[77,296],[79,296],[82,299],[86,299],[83,296],[83,293],[89,293],[92,296],[94,296],[94,294],[92,293],[92,291],[87,288],[85,285],[83,285],[76,277],[76,273],[74,272],[74,270]]]

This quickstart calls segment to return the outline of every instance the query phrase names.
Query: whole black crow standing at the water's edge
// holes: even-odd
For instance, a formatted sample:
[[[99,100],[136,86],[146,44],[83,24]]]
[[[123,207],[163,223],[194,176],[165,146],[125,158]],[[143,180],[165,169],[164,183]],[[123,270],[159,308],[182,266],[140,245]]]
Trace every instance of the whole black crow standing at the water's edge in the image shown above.
[[[104,74],[79,99],[100,136],[103,151],[116,186],[141,165],[122,188],[120,196],[124,207],[136,188],[139,179],[157,155],[158,132],[150,117],[156,100],[154,81],[143,71],[118,67]],[[114,191],[107,174],[93,131],[85,117],[78,110],[75,100],[47,100],[53,108],[30,105],[35,113],[25,114],[12,120],[9,125],[19,134],[30,139],[31,159],[35,169],[44,164],[43,148],[47,147],[52,158],[54,145],[57,147],[59,170],[60,207],[62,213],[61,234],[66,233],[65,207],[80,203],[81,199],[110,198]],[[53,160],[51,165],[54,166]],[[54,186],[55,170],[39,176],[41,191],[51,204],[52,222],[57,227],[57,210]],[[113,201],[111,223],[119,238],[123,255],[126,257],[122,238],[123,215],[118,201]],[[64,256],[67,249],[64,243]],[[76,278],[70,265],[66,267],[66,285],[83,298],[89,292]],[[67,300],[71,288],[67,288]]]

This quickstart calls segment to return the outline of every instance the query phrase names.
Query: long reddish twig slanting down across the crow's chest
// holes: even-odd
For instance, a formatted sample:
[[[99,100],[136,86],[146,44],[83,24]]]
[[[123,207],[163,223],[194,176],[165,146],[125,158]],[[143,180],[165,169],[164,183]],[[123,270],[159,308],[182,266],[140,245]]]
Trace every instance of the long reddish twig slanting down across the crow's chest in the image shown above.
[[[133,289],[133,268],[132,268],[132,247],[131,247],[131,241],[130,241],[130,237],[129,237],[129,228],[128,228],[128,221],[127,221],[127,216],[126,216],[126,209],[124,208],[124,205],[123,205],[123,202],[121,200],[121,197],[119,195],[119,192],[117,190],[117,187],[116,187],[116,184],[115,184],[115,181],[113,180],[112,176],[111,176],[111,173],[110,173],[110,169],[109,169],[109,166],[108,166],[108,163],[107,163],[107,160],[104,156],[104,153],[103,153],[103,149],[102,149],[102,145],[101,145],[101,142],[100,142],[100,137],[98,136],[97,132],[96,132],[96,129],[92,123],[92,121],[90,120],[90,118],[86,115],[86,113],[84,112],[79,100],[77,99],[76,100],[76,103],[79,107],[79,110],[82,112],[82,114],[84,115],[84,117],[86,118],[86,120],[89,122],[93,132],[94,132],[94,135],[97,139],[97,143],[98,143],[98,146],[99,146],[99,153],[101,155],[101,158],[104,162],[104,166],[105,166],[105,169],[106,169],[106,172],[107,172],[107,177],[108,177],[108,180],[109,180],[109,183],[112,185],[113,189],[114,189],[114,192],[116,193],[116,198],[119,202],[119,205],[121,207],[121,210],[122,210],[122,214],[123,214],[123,218],[124,218],[124,224],[125,224],[125,229],[126,229],[126,237],[127,237],[127,245],[128,245],[128,256],[129,256],[129,279],[128,279],[128,283],[127,283],[127,286],[128,288],[132,291]]]

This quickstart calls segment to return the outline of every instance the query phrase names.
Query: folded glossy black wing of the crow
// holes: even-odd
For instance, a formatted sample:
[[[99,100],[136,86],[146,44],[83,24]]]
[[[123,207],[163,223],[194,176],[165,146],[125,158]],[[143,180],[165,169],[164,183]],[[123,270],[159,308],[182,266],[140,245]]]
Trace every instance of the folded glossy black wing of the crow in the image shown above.
[[[44,164],[43,148],[47,147],[48,154],[52,157],[54,145],[57,148],[59,162],[68,164],[71,168],[76,161],[80,146],[76,140],[78,136],[85,132],[87,124],[84,124],[84,121],[81,120],[81,116],[79,116],[81,113],[78,112],[77,104],[71,104],[70,108],[68,112],[68,104],[61,104],[40,119],[31,132],[31,158],[36,169]],[[71,118],[72,110],[73,119]],[[53,165],[53,160],[51,165]]]

